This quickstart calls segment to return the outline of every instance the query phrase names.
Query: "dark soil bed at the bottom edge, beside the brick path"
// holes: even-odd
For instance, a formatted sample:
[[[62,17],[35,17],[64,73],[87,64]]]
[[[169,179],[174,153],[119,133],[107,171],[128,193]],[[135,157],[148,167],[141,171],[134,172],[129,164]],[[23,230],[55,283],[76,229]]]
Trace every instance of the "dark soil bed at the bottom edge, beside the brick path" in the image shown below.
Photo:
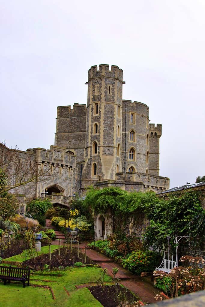
[[[137,306],[139,299],[130,290],[119,285],[93,286],[88,289],[104,307]]]

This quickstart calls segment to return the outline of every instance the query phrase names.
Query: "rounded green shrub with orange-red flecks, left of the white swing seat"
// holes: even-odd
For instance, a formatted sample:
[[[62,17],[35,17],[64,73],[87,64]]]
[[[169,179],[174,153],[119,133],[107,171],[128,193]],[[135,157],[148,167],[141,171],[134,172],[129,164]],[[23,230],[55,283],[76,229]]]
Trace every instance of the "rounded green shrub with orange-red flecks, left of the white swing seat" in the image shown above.
[[[153,251],[133,251],[122,263],[132,274],[140,275],[155,270],[159,260],[159,255]]]

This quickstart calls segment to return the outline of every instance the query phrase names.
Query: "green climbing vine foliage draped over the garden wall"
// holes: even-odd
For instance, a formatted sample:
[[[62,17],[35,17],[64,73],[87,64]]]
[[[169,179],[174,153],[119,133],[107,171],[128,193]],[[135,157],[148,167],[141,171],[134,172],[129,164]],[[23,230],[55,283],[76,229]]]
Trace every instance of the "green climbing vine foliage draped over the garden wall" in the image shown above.
[[[199,192],[189,191],[180,196],[170,196],[168,200],[159,198],[152,191],[126,192],[119,188],[90,188],[84,200],[95,213],[112,212],[115,221],[143,215],[149,220],[144,231],[144,243],[154,248],[162,247],[166,236],[189,236],[192,240],[204,241],[205,210],[199,201]],[[116,222],[117,223],[117,222]]]

